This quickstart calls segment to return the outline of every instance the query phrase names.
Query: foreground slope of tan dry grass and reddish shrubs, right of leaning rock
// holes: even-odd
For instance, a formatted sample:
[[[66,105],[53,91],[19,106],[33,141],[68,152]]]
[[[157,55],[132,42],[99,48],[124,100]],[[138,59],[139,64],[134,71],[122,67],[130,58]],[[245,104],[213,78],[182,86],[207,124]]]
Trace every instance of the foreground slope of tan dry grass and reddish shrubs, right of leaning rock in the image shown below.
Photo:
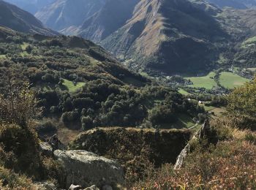
[[[151,169],[146,180],[130,189],[256,189],[256,133],[242,129],[241,120],[211,121],[219,137],[217,145],[197,142],[181,170],[170,164]]]

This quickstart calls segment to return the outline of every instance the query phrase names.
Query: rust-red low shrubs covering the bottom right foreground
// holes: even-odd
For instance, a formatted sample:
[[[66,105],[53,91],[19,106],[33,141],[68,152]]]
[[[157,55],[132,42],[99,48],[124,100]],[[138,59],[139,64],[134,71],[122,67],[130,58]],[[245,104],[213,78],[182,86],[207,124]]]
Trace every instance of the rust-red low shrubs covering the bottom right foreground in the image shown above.
[[[246,142],[219,142],[195,151],[181,170],[165,164],[131,189],[255,189],[256,147]]]

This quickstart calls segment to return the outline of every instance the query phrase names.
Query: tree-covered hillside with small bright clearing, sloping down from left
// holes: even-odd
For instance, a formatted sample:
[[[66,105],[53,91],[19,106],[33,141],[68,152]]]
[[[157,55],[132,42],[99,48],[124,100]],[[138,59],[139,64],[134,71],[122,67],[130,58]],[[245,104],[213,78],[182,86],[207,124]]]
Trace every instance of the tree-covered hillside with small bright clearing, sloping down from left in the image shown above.
[[[24,35],[6,28],[0,34],[2,92],[17,77],[17,82],[31,83],[43,116],[58,121],[54,128],[61,123],[71,129],[186,128],[204,113],[197,102],[189,102],[175,89],[154,86],[92,42]]]

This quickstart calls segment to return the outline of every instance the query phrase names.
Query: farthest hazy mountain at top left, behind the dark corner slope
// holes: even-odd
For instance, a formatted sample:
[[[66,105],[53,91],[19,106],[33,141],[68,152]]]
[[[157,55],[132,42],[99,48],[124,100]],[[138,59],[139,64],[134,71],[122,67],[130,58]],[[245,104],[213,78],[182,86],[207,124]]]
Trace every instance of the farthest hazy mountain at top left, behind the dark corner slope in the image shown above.
[[[39,9],[45,7],[48,4],[53,3],[56,0],[5,0],[11,4],[15,4],[16,6],[24,9],[31,14],[35,14]]]

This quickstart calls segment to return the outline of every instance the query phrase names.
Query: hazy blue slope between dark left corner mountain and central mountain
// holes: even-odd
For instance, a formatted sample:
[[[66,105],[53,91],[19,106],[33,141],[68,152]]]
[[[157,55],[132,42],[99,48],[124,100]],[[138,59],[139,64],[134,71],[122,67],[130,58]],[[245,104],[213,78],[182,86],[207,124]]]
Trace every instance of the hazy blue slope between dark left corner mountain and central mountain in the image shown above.
[[[46,26],[67,33],[80,26],[105,4],[106,0],[57,0],[42,8],[35,16]]]

